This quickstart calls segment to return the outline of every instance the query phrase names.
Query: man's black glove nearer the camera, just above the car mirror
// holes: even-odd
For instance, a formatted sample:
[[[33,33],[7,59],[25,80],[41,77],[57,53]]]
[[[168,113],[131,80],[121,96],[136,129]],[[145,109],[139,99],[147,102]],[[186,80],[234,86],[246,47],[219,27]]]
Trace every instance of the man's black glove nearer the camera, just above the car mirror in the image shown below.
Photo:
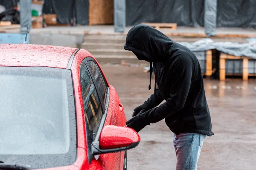
[[[134,129],[136,132],[142,130],[145,126],[150,125],[147,120],[147,112],[140,113],[126,122],[127,127]]]

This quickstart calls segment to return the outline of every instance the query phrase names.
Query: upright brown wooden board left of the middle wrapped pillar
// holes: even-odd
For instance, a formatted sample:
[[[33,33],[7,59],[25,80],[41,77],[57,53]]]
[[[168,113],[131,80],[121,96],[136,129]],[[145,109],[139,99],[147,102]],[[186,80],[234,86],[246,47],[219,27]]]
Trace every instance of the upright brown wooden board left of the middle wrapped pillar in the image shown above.
[[[113,0],[89,0],[89,26],[113,24]]]

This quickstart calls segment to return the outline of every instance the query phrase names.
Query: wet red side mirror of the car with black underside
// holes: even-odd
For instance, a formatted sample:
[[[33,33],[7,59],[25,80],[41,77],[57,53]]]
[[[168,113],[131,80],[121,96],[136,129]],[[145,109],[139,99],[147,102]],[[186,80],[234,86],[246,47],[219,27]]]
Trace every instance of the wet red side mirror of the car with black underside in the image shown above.
[[[94,155],[113,153],[137,147],[140,143],[139,134],[129,128],[114,125],[103,127],[98,142],[93,142]]]

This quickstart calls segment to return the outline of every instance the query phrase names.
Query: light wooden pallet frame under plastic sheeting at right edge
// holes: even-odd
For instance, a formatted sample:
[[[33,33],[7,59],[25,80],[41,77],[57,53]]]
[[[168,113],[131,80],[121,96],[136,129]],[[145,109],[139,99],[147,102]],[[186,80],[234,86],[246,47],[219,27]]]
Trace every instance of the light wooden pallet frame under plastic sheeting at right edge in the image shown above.
[[[244,81],[247,81],[249,76],[256,76],[256,74],[249,74],[249,71],[248,71],[249,59],[253,59],[253,58],[245,57],[245,56],[237,57],[237,56],[221,53],[220,61],[219,61],[219,67],[220,67],[219,77],[221,81],[226,79],[226,75],[241,76],[241,74],[226,74],[226,59],[242,59],[242,62],[243,62],[242,77]],[[253,59],[253,60],[256,60],[256,59]]]

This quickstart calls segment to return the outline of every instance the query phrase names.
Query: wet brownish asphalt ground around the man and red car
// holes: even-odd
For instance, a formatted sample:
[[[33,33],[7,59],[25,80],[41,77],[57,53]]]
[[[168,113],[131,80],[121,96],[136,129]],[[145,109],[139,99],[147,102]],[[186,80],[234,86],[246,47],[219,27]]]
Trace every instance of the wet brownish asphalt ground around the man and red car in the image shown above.
[[[133,109],[154,92],[140,66],[102,65],[130,119]],[[154,85],[154,78],[151,82]],[[256,170],[256,79],[220,82],[204,79],[215,135],[205,139],[198,170]],[[138,147],[128,150],[128,170],[175,170],[173,133],[164,120],[139,132]]]

